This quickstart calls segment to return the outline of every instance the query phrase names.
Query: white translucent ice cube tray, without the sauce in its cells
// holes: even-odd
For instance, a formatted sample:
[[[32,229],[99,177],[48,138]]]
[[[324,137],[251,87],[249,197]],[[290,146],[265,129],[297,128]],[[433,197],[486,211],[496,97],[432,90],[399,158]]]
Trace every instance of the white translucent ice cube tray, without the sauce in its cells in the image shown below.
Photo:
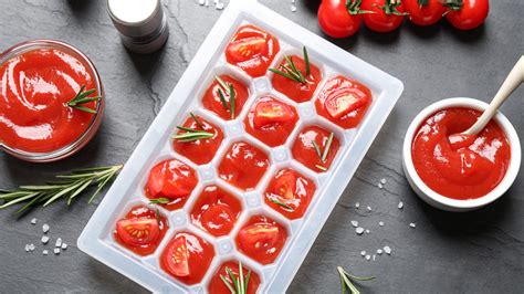
[[[281,50],[274,59],[272,67],[275,67],[284,55],[302,55],[302,46],[307,48],[311,62],[323,73],[323,81],[311,102],[295,103],[274,91],[270,80],[271,73],[263,77],[252,78],[226,62],[223,52],[227,43],[240,25],[248,23],[254,24],[279,39]],[[250,97],[243,106],[241,115],[229,122],[222,120],[201,105],[205,91],[214,76],[222,73],[237,77],[249,85],[250,90]],[[316,114],[314,106],[316,95],[329,77],[338,74],[357,80],[371,90],[373,104],[357,128],[343,129]],[[404,85],[399,80],[343,51],[256,1],[232,0],[130,156],[120,176],[85,227],[78,239],[78,248],[153,292],[205,293],[212,275],[223,262],[240,260],[260,275],[259,293],[282,293],[293,280],[338,198],[397,103],[402,88]],[[281,147],[268,147],[244,132],[243,119],[249,108],[256,97],[264,94],[270,94],[293,105],[300,116],[294,132],[287,138],[286,144]],[[208,165],[195,165],[177,154],[171,147],[170,136],[176,126],[185,122],[189,112],[219,126],[224,134],[224,140],[214,159]],[[333,132],[340,143],[338,154],[327,172],[312,171],[292,158],[291,145],[300,130],[310,125],[319,125]],[[245,140],[264,150],[271,160],[271,167],[256,189],[249,192],[242,192],[217,176],[217,167],[224,153],[232,143],[239,140]],[[148,199],[144,196],[148,172],[156,164],[168,158],[178,158],[196,169],[199,183],[182,209],[167,211],[158,207],[168,219],[169,231],[155,253],[139,256],[120,246],[114,240],[113,231],[116,221],[122,219],[133,206],[138,203],[149,206]],[[263,200],[263,191],[270,179],[284,167],[297,170],[316,185],[315,195],[306,213],[303,218],[293,221],[271,209]],[[243,203],[243,210],[235,228],[229,235],[221,238],[214,238],[203,232],[195,227],[189,218],[192,203],[202,188],[210,183],[221,186]],[[282,252],[276,261],[269,265],[262,265],[235,249],[234,237],[248,219],[254,214],[268,216],[287,230],[289,237]],[[193,232],[214,246],[216,256],[206,276],[201,283],[192,286],[187,286],[172,279],[159,267],[161,251],[171,237],[179,231]]]

